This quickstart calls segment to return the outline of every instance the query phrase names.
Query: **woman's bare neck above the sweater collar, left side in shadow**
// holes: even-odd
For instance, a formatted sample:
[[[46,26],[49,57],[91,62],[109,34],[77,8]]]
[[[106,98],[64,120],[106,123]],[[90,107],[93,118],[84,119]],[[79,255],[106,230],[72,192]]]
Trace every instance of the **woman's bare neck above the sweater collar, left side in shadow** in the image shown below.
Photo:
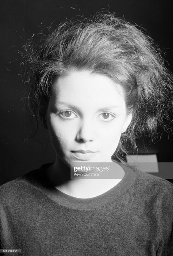
[[[120,170],[122,177],[124,170],[115,163],[115,171]],[[122,179],[70,179],[70,167],[60,159],[48,167],[47,177],[59,191],[78,198],[91,198],[99,196],[115,187]]]

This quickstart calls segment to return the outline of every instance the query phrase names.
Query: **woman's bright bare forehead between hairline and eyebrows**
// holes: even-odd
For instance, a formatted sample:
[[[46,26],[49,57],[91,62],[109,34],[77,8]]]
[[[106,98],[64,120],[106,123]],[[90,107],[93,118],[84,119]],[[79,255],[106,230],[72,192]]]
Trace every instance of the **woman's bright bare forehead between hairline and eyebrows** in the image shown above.
[[[76,105],[124,106],[124,92],[120,84],[102,74],[89,71],[70,71],[53,83],[51,102],[75,103]]]

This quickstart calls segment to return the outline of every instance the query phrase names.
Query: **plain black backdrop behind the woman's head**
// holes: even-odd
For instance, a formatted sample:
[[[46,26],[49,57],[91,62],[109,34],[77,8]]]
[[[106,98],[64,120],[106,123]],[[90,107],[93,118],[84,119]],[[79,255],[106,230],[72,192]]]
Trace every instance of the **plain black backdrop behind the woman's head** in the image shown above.
[[[54,161],[46,130],[39,127],[34,138],[34,125],[23,109],[24,83],[20,76],[20,51],[33,34],[45,31],[51,23],[76,15],[90,16],[105,8],[118,17],[143,26],[166,53],[166,66],[173,71],[171,1],[155,0],[1,0],[0,61],[0,184]],[[76,10],[77,9],[77,10]],[[169,95],[168,95],[169,97]],[[34,118],[31,117],[34,123]],[[137,142],[139,154],[155,153],[159,162],[173,162],[173,142],[163,132],[162,139],[149,143],[142,137]],[[132,152],[130,152],[132,153]]]

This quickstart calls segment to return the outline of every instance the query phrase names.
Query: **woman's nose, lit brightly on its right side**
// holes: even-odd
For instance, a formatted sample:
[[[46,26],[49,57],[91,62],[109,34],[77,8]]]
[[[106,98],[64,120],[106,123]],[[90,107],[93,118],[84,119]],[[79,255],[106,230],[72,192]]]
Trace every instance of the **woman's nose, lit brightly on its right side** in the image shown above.
[[[85,120],[81,122],[76,139],[80,142],[95,140],[96,131],[93,121]]]

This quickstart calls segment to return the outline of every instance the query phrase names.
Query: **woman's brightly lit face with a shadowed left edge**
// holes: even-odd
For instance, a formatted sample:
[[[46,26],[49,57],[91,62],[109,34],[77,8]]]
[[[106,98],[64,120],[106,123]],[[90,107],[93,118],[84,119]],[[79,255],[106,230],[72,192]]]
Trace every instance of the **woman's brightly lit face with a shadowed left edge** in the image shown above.
[[[72,162],[111,162],[131,121],[122,87],[107,76],[70,71],[53,83],[47,126],[57,157]]]

